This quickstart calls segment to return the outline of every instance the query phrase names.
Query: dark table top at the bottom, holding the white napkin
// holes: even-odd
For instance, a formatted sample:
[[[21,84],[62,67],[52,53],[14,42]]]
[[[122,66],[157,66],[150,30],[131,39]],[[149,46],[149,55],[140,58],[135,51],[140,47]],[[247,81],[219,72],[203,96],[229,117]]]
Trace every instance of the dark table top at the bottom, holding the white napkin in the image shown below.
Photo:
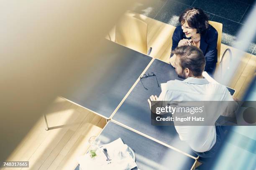
[[[101,145],[118,138],[133,149],[141,170],[190,170],[195,159],[109,121],[100,134]]]

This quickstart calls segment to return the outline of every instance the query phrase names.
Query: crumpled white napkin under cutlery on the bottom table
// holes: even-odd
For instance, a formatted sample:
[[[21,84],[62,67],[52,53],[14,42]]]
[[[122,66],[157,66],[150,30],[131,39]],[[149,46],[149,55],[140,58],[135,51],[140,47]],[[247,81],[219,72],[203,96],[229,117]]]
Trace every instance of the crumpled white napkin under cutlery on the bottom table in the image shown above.
[[[108,150],[108,154],[111,159],[111,163],[107,163],[107,158],[103,153],[103,148]],[[78,163],[80,165],[80,170],[131,170],[136,167],[137,164],[134,162],[130,153],[128,152],[128,146],[123,143],[121,138],[103,145],[100,148],[101,154],[98,155],[95,160],[90,158],[90,154],[85,154],[78,158]]]

